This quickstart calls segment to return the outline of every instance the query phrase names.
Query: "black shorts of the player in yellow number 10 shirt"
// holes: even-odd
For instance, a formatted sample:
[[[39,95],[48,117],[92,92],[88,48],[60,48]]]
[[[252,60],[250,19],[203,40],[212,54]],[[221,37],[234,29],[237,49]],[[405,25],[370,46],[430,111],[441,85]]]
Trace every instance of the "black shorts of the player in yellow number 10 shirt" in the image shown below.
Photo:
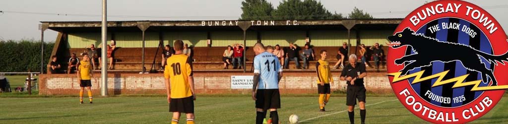
[[[194,113],[194,97],[173,99],[169,103],[170,112]]]

